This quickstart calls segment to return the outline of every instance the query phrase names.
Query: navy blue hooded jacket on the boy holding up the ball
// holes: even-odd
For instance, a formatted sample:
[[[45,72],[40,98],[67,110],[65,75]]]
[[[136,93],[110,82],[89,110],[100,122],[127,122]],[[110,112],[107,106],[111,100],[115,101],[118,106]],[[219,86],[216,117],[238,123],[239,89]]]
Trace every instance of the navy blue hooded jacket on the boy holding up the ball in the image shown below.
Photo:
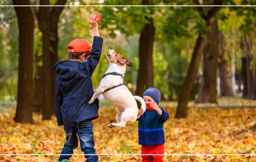
[[[99,100],[88,104],[93,95],[91,76],[101,55],[103,38],[94,37],[87,62],[60,61],[53,69],[56,78],[55,115],[58,126],[74,127],[75,122],[98,117]]]

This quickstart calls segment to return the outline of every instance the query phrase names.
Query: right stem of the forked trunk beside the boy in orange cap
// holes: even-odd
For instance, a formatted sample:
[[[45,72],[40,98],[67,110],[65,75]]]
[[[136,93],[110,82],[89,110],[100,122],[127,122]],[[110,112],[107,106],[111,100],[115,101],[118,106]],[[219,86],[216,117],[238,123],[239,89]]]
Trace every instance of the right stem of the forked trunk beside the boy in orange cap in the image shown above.
[[[58,0],[55,5],[65,5],[67,0]],[[51,11],[51,23],[50,25],[50,30],[51,30],[51,39],[50,39],[50,67],[51,67],[51,113],[54,113],[54,103],[55,103],[55,80],[57,77],[56,71],[53,70],[53,65],[58,62],[58,21],[59,17],[61,14],[61,11],[63,10],[64,6],[59,6],[59,7],[53,7]]]

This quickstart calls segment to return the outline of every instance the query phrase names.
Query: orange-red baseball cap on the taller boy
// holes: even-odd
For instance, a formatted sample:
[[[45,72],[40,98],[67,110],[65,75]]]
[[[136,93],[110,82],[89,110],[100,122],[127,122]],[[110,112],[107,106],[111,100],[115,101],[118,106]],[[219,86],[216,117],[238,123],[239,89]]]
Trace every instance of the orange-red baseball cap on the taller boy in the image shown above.
[[[86,52],[86,51],[92,51],[91,46],[87,41],[84,41],[83,39],[74,39],[69,43],[68,46],[71,46],[73,49],[68,49],[68,52]]]

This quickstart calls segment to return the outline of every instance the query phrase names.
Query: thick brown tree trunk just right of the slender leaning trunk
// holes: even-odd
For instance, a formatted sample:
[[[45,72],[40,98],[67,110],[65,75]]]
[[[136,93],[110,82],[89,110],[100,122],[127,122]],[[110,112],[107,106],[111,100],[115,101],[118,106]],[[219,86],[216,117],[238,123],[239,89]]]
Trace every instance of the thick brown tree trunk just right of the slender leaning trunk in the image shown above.
[[[216,20],[209,27],[203,53],[203,76],[196,103],[217,103],[218,27]]]

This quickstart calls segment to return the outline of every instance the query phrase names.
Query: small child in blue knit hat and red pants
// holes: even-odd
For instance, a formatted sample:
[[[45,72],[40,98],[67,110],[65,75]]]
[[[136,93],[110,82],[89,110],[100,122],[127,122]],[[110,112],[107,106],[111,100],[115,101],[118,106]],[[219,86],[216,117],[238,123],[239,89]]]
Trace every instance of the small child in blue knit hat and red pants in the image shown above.
[[[159,108],[160,91],[148,88],[143,94],[146,111],[139,117],[139,145],[141,154],[164,154],[164,122],[169,114]],[[142,162],[163,162],[163,155],[142,155]]]

